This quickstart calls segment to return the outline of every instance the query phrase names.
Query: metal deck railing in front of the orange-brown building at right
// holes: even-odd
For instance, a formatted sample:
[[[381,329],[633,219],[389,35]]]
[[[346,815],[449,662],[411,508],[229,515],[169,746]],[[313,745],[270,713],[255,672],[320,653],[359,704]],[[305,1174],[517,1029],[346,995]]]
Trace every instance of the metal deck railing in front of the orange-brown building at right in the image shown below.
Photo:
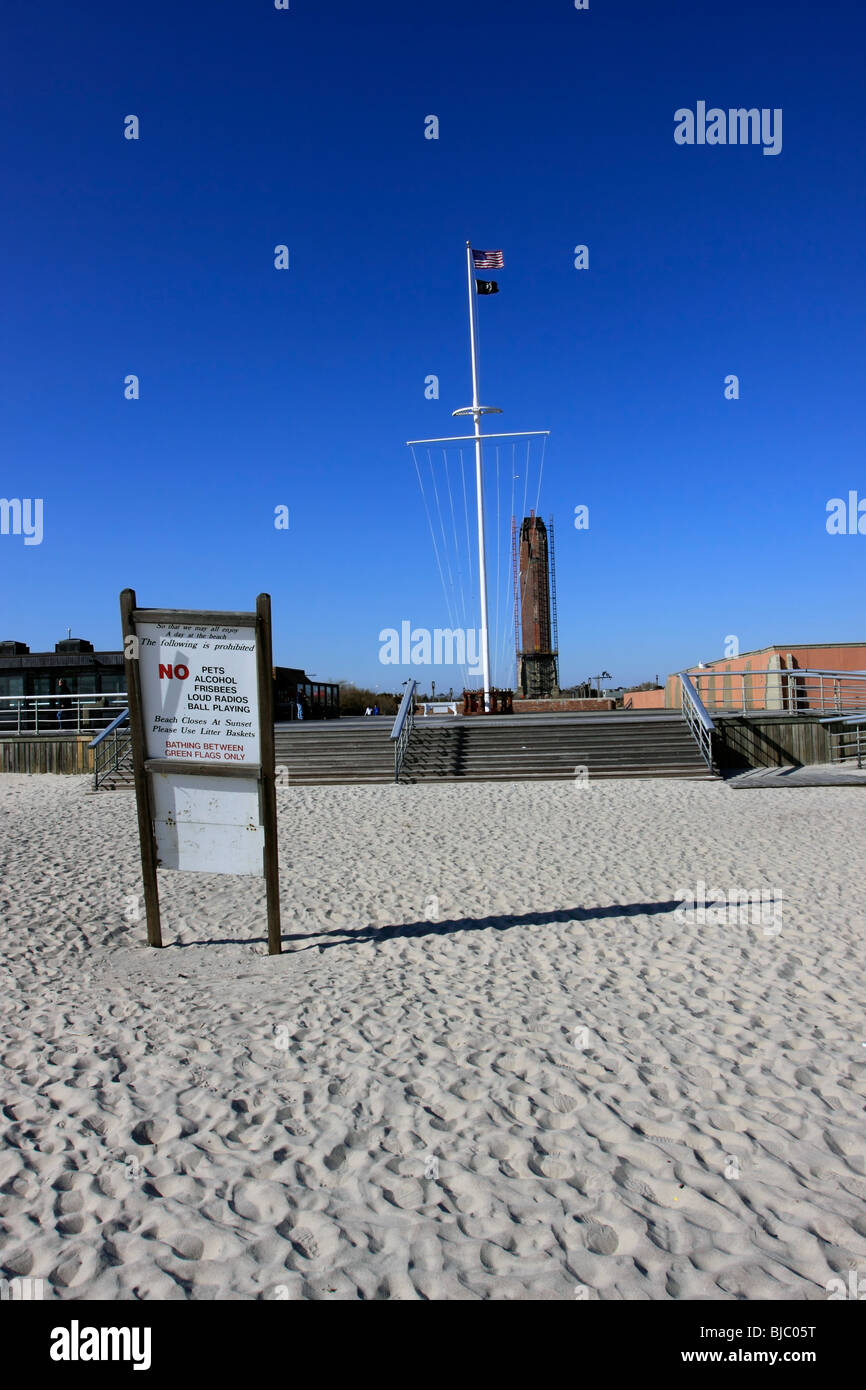
[[[681,671],[713,714],[858,713],[866,710],[866,671]]]

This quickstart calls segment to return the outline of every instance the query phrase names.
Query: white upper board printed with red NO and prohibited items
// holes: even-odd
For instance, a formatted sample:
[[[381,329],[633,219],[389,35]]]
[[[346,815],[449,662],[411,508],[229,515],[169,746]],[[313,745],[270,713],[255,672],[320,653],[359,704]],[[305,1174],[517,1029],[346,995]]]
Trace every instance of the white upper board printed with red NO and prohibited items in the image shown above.
[[[259,763],[256,630],[139,623],[147,758]]]

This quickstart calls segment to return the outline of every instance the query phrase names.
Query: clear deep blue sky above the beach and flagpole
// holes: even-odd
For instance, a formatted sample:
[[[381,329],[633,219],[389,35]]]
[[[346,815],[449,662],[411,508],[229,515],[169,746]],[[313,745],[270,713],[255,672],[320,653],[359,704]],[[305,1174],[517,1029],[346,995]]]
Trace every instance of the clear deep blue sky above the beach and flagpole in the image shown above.
[[[713,11],[13,3],[0,495],[44,538],[0,537],[0,637],[265,589],[278,662],[399,685],[379,631],[448,626],[405,441],[471,398],[471,238],[482,398],[550,430],[563,681],[866,638],[866,537],[824,524],[866,496],[866,24]],[[781,153],[676,145],[699,100],[783,108]]]

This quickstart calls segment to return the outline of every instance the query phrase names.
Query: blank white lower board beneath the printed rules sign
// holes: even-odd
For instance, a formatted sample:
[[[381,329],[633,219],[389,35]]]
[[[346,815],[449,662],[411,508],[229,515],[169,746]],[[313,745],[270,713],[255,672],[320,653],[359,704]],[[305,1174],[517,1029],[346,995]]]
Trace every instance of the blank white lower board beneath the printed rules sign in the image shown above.
[[[160,869],[264,873],[256,777],[153,773],[153,830]]]

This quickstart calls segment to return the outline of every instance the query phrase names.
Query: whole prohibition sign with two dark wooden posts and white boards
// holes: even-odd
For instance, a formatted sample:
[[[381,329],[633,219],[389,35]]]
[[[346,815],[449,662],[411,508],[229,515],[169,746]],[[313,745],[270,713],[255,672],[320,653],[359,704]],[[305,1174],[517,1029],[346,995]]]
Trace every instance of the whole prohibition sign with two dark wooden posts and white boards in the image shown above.
[[[278,955],[271,599],[254,613],[139,609],[121,594],[147,944],[157,867],[263,876]]]

